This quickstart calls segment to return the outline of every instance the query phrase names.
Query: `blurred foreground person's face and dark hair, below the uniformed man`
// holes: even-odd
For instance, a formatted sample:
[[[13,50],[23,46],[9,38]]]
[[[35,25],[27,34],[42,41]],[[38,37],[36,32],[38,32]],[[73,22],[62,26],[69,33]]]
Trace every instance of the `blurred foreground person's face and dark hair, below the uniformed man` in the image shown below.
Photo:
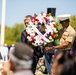
[[[52,64],[52,74],[59,75],[62,71],[64,64],[67,61],[72,61],[73,59],[74,59],[74,57],[71,54],[66,53],[66,51],[64,51],[64,50],[60,51],[57,54],[57,56],[54,58],[54,61]]]

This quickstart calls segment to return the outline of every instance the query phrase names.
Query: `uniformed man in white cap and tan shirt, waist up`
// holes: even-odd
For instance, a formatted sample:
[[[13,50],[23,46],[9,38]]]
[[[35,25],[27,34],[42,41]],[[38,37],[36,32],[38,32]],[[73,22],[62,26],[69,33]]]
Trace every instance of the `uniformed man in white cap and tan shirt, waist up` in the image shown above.
[[[76,32],[69,24],[70,16],[70,14],[63,14],[58,16],[60,24],[62,25],[62,28],[58,31],[60,44],[57,46],[46,47],[46,51],[58,49],[58,51],[66,50],[67,53],[73,54],[72,44],[74,42]]]

